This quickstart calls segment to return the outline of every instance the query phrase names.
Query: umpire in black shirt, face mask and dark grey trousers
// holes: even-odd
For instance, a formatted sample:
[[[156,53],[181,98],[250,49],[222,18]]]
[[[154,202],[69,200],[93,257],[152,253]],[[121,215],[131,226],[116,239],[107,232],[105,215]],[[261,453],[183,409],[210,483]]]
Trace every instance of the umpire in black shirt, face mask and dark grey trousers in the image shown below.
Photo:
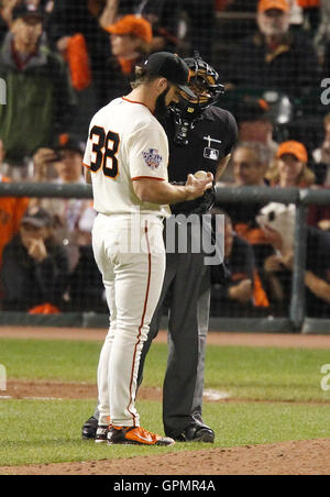
[[[185,62],[190,69],[189,87],[198,100],[183,93],[177,103],[160,118],[169,143],[169,183],[185,183],[188,174],[211,172],[217,181],[224,170],[238,139],[233,115],[215,106],[223,93],[217,71],[198,53]],[[172,206],[174,216],[200,219],[212,205],[209,194],[201,200]],[[183,219],[183,216],[180,218]],[[172,219],[175,219],[174,217]],[[153,339],[157,335],[163,306],[168,306],[168,361],[163,387],[163,422],[167,437],[177,441],[213,442],[215,432],[202,421],[205,346],[209,324],[210,276],[205,253],[196,253],[196,235],[190,223],[175,222],[177,232],[187,233],[187,251],[166,253],[166,272],[161,299],[144,343],[139,384]],[[168,230],[165,225],[165,238]],[[176,244],[177,245],[177,244]],[[98,412],[82,427],[82,438],[94,438]]]

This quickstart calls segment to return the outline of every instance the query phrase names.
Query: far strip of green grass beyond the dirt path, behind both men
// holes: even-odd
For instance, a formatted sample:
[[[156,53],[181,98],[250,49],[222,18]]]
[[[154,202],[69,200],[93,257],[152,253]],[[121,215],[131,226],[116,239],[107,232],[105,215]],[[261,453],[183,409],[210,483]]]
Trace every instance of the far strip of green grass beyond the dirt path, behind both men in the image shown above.
[[[12,379],[96,383],[100,349],[92,342],[1,340],[0,364]],[[144,386],[162,385],[166,350],[151,349]],[[320,388],[321,366],[329,363],[327,350],[208,346],[206,388],[255,400],[330,401],[330,391]]]

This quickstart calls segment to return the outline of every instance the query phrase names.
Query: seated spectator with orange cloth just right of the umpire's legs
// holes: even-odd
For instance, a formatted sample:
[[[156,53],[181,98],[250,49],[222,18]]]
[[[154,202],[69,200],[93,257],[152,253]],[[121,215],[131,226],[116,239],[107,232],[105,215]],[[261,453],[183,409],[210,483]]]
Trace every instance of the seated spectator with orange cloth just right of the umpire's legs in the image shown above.
[[[212,214],[223,212],[213,208]],[[234,232],[228,214],[224,214],[223,242],[228,284],[223,285],[219,266],[211,266],[211,314],[255,316],[268,307],[268,299],[256,270],[253,248]]]

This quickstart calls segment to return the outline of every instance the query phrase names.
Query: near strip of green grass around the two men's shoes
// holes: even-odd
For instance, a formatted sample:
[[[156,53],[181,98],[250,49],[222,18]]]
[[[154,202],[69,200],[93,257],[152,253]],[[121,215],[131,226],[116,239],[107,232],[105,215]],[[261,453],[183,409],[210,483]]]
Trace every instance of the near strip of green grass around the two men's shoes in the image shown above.
[[[0,402],[0,466],[150,455],[150,448],[109,448],[81,441],[80,428],[92,407],[85,400]],[[146,428],[162,432],[158,402],[141,401],[139,410]],[[330,437],[327,406],[207,404],[205,420],[217,433],[212,448]],[[210,446],[177,443],[153,448],[153,454],[206,448]]]

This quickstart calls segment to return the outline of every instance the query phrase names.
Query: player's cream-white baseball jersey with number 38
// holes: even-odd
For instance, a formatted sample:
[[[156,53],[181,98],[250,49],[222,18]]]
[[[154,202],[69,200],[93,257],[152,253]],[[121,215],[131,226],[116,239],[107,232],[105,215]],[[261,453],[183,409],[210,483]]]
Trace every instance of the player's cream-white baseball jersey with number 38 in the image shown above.
[[[168,180],[167,136],[143,103],[118,98],[95,114],[84,165],[91,172],[97,212],[169,214],[168,206],[142,202],[133,188],[138,178]]]

